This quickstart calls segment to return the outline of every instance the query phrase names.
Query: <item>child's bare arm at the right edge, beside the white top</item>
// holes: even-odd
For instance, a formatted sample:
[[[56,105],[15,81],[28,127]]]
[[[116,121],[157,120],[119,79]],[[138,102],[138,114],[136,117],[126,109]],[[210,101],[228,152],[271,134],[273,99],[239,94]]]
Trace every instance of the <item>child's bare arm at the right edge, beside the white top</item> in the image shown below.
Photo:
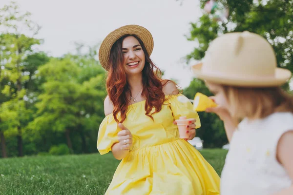
[[[277,159],[288,172],[293,181],[293,130],[282,135],[277,146]],[[293,195],[293,184],[291,187],[273,195]]]

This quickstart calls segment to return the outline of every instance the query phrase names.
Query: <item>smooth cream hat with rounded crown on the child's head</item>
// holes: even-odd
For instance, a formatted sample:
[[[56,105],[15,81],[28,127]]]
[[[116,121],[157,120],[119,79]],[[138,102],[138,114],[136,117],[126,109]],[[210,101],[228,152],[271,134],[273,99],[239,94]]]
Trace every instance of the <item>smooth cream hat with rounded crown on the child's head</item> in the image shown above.
[[[271,44],[248,31],[214,39],[203,62],[191,70],[200,79],[243,87],[280,86],[291,78],[289,70],[277,68]]]

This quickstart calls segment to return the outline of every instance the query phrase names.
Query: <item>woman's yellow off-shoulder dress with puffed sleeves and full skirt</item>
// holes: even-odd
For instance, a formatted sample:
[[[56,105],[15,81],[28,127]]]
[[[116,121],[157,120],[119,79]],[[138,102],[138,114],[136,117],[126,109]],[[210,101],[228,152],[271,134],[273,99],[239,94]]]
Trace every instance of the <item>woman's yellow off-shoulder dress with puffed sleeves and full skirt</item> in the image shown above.
[[[174,119],[198,114],[183,95],[170,95],[162,110],[145,115],[145,101],[129,105],[124,125],[133,137],[131,151],[117,167],[105,195],[219,195],[220,178],[204,157],[179,138]],[[100,125],[97,148],[108,153],[121,131],[112,114]]]

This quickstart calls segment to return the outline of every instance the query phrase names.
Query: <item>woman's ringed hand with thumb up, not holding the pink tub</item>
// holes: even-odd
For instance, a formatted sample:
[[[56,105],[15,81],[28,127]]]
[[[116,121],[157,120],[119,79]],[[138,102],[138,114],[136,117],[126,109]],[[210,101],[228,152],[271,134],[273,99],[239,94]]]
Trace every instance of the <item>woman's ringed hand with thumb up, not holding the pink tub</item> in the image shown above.
[[[121,150],[129,150],[132,146],[132,134],[131,132],[122,124],[119,123],[118,127],[122,129],[118,133],[118,140]]]

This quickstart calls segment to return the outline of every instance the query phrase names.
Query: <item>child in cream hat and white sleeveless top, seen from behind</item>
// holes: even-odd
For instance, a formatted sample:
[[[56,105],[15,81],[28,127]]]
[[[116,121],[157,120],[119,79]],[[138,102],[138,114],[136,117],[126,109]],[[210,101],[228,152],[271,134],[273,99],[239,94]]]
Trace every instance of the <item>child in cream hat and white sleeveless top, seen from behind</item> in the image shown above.
[[[277,68],[269,42],[225,34],[192,71],[215,95],[207,112],[224,121],[230,141],[221,195],[293,195],[293,98],[280,88],[291,72]]]

